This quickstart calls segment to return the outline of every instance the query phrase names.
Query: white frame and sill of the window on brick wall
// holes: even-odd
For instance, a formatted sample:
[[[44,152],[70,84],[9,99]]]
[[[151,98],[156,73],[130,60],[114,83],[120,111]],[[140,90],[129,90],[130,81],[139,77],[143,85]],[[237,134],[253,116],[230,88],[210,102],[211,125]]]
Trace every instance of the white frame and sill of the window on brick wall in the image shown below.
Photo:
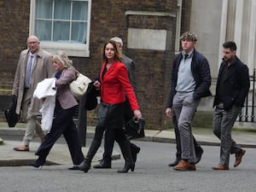
[[[88,2],[88,26],[87,26],[87,38],[86,44],[74,44],[74,43],[57,43],[50,41],[41,41],[40,46],[49,51],[55,53],[56,51],[63,50],[69,56],[78,57],[89,57],[90,50],[90,12],[91,12],[91,0],[84,0]],[[35,15],[36,15],[36,0],[31,0],[30,3],[30,23],[29,23],[29,34],[33,35],[35,32]]]

